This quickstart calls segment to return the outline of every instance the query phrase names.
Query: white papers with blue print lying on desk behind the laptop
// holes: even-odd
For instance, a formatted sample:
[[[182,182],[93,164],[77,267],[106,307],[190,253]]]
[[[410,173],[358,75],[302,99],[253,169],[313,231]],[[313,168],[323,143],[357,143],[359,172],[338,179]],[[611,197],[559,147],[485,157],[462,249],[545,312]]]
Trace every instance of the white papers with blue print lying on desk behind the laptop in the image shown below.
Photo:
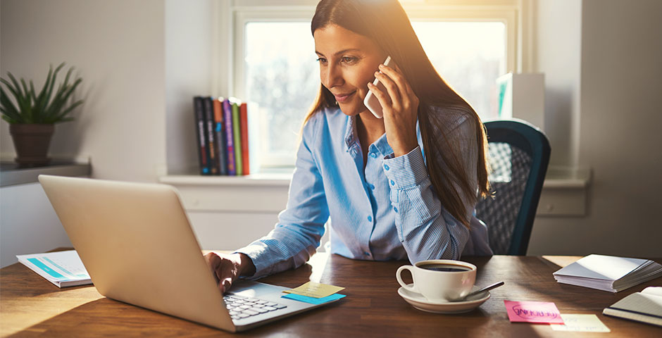
[[[18,255],[16,258],[58,287],[92,284],[75,250]]]

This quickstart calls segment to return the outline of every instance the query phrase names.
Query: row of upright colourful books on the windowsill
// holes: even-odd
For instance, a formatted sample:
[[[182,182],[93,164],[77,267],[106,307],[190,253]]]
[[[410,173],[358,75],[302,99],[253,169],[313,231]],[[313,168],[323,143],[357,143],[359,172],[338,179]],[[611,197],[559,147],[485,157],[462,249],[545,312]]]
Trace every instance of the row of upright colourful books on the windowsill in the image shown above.
[[[201,175],[249,175],[248,111],[238,99],[193,98]]]

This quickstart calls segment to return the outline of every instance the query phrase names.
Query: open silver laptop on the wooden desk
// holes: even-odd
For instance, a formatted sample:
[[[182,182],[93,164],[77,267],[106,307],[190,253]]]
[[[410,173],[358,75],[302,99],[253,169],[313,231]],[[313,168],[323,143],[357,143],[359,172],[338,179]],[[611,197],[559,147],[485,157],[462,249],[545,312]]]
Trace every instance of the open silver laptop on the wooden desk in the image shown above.
[[[237,280],[221,294],[173,187],[49,175],[39,182],[108,298],[230,332],[321,306],[259,282]]]

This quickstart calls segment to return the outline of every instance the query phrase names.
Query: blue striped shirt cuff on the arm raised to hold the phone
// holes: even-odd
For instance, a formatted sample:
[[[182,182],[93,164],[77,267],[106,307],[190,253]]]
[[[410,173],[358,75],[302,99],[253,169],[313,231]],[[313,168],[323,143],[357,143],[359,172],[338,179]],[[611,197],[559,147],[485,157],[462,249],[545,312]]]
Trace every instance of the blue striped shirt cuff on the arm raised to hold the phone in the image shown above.
[[[386,156],[382,161],[382,170],[389,178],[391,189],[416,187],[424,180],[428,180],[420,146],[416,146],[403,156]]]

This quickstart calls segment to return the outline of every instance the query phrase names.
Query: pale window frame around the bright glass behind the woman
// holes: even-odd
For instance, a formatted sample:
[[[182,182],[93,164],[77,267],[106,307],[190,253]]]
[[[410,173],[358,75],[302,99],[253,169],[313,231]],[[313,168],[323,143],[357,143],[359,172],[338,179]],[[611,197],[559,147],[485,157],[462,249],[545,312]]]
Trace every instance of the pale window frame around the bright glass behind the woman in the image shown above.
[[[412,21],[430,22],[501,22],[506,27],[506,64],[505,73],[514,73],[522,70],[523,61],[530,55],[523,46],[523,40],[530,39],[524,35],[523,22],[527,21],[522,10],[529,5],[529,0],[401,0],[401,3]],[[244,35],[246,23],[249,22],[309,22],[315,13],[316,0],[285,0],[274,5],[267,0],[235,0],[223,1],[218,8],[217,31],[220,39],[216,39],[216,58],[218,63],[213,65],[216,78],[212,87],[213,92],[221,95],[246,97],[244,81]],[[221,23],[224,22],[225,24]],[[225,48],[224,48],[225,46]],[[227,46],[232,46],[228,49]],[[529,53],[530,54],[530,53]],[[223,72],[223,69],[227,71]],[[223,85],[225,84],[225,85]],[[225,88],[223,88],[225,87]],[[220,90],[225,89],[225,90]],[[312,99],[311,99],[312,100]],[[312,101],[311,101],[312,102]],[[305,112],[302,112],[304,114]],[[258,126],[252,126],[256,132]],[[259,154],[257,158],[259,171],[273,168],[293,168],[295,154],[292,156],[273,156]]]

